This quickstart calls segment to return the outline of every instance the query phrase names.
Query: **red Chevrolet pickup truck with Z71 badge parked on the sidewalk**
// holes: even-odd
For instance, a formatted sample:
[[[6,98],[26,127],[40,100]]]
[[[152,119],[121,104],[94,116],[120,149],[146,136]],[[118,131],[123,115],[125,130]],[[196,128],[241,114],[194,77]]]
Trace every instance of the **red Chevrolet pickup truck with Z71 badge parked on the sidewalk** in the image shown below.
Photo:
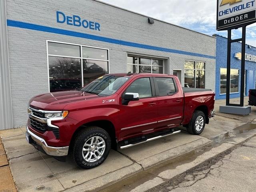
[[[172,75],[108,74],[80,90],[33,97],[26,139],[59,160],[70,153],[78,166],[93,168],[111,147],[176,134],[180,125],[199,135],[213,116],[214,96],[212,90],[182,88]]]

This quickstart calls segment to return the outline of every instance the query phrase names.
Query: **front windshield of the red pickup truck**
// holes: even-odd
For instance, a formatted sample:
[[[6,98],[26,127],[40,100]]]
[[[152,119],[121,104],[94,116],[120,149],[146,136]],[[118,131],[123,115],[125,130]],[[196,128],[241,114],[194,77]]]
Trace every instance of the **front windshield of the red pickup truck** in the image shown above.
[[[83,92],[109,96],[114,94],[130,77],[123,76],[102,76],[81,89]]]

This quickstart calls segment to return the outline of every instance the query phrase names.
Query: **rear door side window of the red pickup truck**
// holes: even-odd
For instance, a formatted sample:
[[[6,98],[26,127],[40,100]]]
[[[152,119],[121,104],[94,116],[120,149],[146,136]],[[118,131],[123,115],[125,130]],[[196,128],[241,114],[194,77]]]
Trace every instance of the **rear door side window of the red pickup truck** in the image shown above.
[[[173,78],[155,77],[154,80],[158,87],[157,96],[173,95],[176,93],[177,90]]]

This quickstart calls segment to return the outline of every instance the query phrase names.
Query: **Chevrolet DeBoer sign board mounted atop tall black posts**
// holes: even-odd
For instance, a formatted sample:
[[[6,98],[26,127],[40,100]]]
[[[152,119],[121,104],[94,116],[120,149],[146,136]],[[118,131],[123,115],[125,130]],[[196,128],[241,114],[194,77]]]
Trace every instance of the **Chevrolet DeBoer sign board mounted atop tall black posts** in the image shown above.
[[[217,0],[217,30],[256,22],[256,0]]]

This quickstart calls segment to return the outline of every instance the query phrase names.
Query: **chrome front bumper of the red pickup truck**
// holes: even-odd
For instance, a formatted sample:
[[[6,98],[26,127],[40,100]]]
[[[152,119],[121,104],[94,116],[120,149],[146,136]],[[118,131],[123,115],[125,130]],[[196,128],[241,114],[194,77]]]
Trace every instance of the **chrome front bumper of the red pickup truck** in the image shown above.
[[[51,155],[51,156],[66,156],[68,155],[68,146],[66,147],[51,147],[48,146],[47,143],[43,138],[40,138],[36,134],[32,133],[27,126],[27,132],[31,136],[32,140],[34,140],[39,146],[42,147],[44,152],[46,154]]]

